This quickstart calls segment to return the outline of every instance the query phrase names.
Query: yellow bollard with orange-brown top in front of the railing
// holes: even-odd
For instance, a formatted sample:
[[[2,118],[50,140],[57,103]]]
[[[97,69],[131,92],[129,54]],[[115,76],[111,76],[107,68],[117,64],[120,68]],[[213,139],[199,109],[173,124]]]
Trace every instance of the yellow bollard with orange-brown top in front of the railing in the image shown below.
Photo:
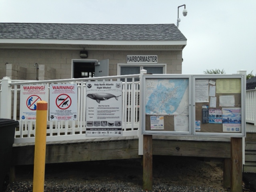
[[[33,192],[44,192],[44,170],[46,154],[47,102],[36,104],[36,138],[34,156]]]

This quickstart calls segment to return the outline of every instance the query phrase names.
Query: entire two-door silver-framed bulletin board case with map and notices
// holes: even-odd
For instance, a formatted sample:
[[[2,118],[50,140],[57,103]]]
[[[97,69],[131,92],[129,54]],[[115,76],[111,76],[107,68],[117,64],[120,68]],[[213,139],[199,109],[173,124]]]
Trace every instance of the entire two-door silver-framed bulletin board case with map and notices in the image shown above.
[[[143,75],[143,134],[245,136],[242,74]]]

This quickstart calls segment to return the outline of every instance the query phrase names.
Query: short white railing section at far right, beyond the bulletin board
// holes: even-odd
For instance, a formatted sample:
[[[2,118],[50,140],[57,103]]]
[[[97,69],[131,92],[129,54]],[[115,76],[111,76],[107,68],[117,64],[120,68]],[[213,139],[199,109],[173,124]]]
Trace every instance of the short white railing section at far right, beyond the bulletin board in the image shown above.
[[[256,89],[246,90],[246,122],[256,126]]]

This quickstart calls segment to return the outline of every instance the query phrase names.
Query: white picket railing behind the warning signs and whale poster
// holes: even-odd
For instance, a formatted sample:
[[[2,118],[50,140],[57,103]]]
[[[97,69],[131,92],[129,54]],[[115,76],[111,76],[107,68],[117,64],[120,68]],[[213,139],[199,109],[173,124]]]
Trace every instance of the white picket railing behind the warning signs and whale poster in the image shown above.
[[[48,121],[46,141],[82,140],[95,138],[86,136],[86,82],[122,80],[122,136],[139,136],[139,100],[140,74],[126,76],[108,76],[102,78],[80,78],[44,81],[10,80],[5,77],[1,85],[0,118],[19,120],[20,86],[26,84],[74,84],[78,85],[78,120]],[[50,98],[50,97],[49,97]],[[48,105],[49,105],[49,101]],[[49,109],[49,106],[48,106]],[[16,128],[14,143],[34,142],[36,122],[20,121]],[[103,138],[102,136],[101,138]]]

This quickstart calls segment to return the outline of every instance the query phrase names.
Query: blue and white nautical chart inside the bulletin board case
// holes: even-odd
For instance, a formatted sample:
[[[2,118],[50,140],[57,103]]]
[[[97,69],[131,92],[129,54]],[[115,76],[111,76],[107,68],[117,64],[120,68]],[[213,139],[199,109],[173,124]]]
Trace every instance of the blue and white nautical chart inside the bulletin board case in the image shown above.
[[[146,114],[188,114],[188,79],[146,79]]]

